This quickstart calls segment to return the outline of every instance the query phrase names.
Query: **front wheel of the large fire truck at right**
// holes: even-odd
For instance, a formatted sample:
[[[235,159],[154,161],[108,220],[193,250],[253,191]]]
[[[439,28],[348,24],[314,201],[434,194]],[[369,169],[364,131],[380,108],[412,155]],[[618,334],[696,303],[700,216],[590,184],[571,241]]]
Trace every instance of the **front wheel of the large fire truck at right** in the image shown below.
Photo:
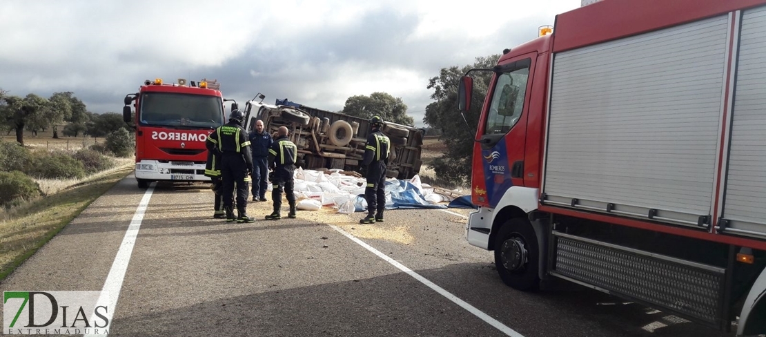
[[[539,252],[537,235],[525,218],[513,218],[495,237],[495,267],[500,279],[516,290],[537,290]]]

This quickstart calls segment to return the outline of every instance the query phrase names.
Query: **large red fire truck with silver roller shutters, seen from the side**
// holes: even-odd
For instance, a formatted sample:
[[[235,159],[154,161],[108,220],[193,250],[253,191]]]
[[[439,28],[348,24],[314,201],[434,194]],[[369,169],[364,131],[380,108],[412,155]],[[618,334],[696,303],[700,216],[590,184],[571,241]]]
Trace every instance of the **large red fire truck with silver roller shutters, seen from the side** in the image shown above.
[[[568,280],[766,334],[764,55],[766,0],[558,15],[552,34],[469,71],[492,80],[466,239],[519,290]],[[463,77],[463,113],[472,90]]]

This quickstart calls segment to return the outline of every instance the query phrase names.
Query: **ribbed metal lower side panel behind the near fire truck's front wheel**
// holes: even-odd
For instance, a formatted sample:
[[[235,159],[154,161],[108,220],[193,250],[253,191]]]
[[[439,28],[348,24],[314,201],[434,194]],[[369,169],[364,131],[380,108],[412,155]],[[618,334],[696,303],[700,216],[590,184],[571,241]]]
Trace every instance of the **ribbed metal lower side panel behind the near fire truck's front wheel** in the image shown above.
[[[556,236],[555,273],[688,319],[719,323],[725,270],[566,234]]]

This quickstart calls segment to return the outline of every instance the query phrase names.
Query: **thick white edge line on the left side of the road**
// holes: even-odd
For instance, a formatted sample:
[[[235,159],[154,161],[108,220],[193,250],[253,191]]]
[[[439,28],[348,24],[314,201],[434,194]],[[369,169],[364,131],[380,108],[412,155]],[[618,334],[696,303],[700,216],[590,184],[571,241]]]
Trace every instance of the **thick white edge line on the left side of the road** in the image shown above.
[[[139,228],[141,228],[141,221],[146,213],[146,207],[149,206],[149,199],[152,198],[152,192],[154,192],[155,184],[149,185],[146,189],[139,207],[136,208],[136,213],[133,214],[133,220],[130,221],[128,231],[125,232],[123,237],[123,243],[119,245],[117,250],[117,256],[112,263],[112,269],[109,270],[109,276],[106,276],[106,282],[103,283],[103,290],[101,297],[98,299],[98,306],[106,306],[108,312],[106,312],[106,318],[109,319],[109,324],[106,326],[108,331],[112,326],[112,317],[114,316],[114,309],[117,306],[117,299],[119,299],[119,290],[123,287],[123,280],[125,280],[125,272],[128,269],[128,263],[130,262],[130,255],[133,254],[133,246],[136,244],[136,237],[139,234]],[[87,335],[90,336],[90,335]]]

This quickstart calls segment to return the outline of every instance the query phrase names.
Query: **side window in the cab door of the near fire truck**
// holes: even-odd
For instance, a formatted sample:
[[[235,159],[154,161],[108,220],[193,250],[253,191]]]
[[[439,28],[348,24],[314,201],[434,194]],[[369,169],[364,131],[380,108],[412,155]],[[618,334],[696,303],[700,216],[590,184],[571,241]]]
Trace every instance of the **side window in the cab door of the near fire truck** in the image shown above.
[[[528,78],[529,66],[499,74],[486,119],[486,135],[508,133],[519,121]]]

